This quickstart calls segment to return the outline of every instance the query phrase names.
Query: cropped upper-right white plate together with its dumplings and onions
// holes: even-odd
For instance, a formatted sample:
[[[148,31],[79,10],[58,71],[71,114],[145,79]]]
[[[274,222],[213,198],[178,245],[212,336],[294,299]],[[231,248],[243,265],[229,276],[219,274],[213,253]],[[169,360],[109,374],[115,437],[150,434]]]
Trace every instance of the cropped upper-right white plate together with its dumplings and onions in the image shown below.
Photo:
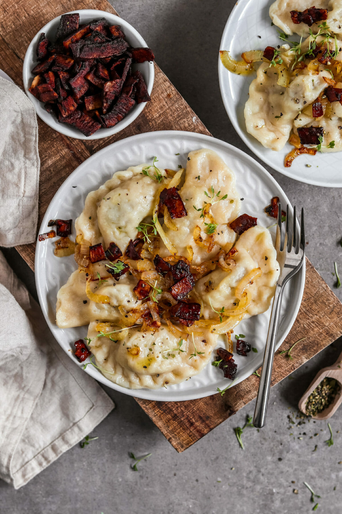
[[[220,43],[221,95],[239,136],[271,168],[316,186],[342,187],[341,27],[342,0],[240,0]],[[246,69],[229,71],[224,57]]]

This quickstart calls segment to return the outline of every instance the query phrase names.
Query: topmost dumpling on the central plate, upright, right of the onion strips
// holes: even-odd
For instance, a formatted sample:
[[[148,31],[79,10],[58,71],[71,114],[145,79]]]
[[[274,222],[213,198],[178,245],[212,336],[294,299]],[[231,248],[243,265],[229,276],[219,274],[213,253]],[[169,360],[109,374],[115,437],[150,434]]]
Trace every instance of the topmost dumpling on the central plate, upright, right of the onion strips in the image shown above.
[[[218,226],[214,248],[208,253],[206,248],[195,243],[193,233],[197,225],[202,229],[203,236],[207,237],[207,226],[204,223],[209,223],[209,221],[207,218],[200,218],[200,209],[205,206],[205,201],[210,203],[211,188],[214,190],[215,204],[210,212]],[[219,196],[216,196],[217,193]],[[177,231],[163,225],[163,230],[177,248],[178,255],[188,256],[187,247],[191,246],[194,252],[192,262],[197,265],[210,259],[220,248],[228,251],[234,244],[236,234],[228,227],[227,223],[237,217],[241,203],[235,187],[235,176],[223,159],[213,150],[202,149],[190,152],[184,185],[180,188],[179,194],[185,204],[187,216],[172,220]],[[216,201],[225,195],[227,195],[226,199]],[[161,242],[160,255],[169,254],[170,252]]]

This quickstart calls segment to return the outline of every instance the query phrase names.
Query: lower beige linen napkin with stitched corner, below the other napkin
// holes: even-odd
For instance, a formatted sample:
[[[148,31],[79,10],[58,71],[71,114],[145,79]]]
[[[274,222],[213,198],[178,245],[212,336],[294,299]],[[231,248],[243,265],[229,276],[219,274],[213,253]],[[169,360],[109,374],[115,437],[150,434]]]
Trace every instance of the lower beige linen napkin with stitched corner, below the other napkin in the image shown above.
[[[53,338],[0,252],[0,478],[15,489],[89,434],[114,403]]]

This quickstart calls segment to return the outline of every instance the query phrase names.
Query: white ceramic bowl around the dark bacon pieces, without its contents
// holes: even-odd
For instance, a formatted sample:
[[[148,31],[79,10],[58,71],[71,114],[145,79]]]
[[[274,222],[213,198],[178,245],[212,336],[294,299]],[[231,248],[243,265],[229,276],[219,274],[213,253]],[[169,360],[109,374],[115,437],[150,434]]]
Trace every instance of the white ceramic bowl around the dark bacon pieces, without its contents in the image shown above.
[[[79,13],[79,24],[87,24],[91,22],[92,20],[100,20],[101,18],[105,17],[108,22],[111,25],[120,25],[125,33],[126,39],[128,43],[134,48],[134,47],[147,47],[147,43],[144,41],[142,36],[137,32],[129,23],[125,22],[122,18],[119,16],[115,16],[114,14],[111,14],[106,11],[98,11],[96,9],[78,9],[76,11],[69,11],[69,13]],[[65,13],[65,14],[69,14]],[[71,125],[66,125],[64,123],[59,123],[57,119],[49,114],[45,108],[44,103],[39,102],[33,95],[31,95],[29,91],[29,87],[31,86],[32,79],[34,75],[32,74],[32,69],[37,64],[36,59],[36,47],[38,43],[39,36],[42,32],[45,32],[45,35],[47,38],[49,38],[50,41],[54,41],[55,33],[59,25],[59,20],[61,19],[61,16],[57,16],[51,22],[47,23],[44,27],[37,32],[37,34],[34,36],[33,40],[31,41],[27,52],[25,54],[24,59],[24,65],[23,65],[23,81],[24,81],[24,88],[26,91],[27,96],[33,103],[36,113],[45,123],[47,123],[50,127],[54,128],[57,132],[61,132],[61,134],[64,134],[69,137],[74,137],[75,139],[100,139],[102,137],[108,137],[112,136],[113,134],[116,134],[117,132],[123,130],[123,128],[126,128],[132,121],[135,120],[139,116],[139,114],[143,111],[146,103],[138,103],[136,104],[132,110],[125,116],[125,118],[121,121],[119,121],[115,126],[111,128],[100,128],[95,134],[92,136],[85,136],[77,130],[77,128],[72,127]],[[144,62],[141,64],[133,64],[133,69],[138,69],[142,72],[142,75],[144,77],[144,80],[147,85],[147,90],[149,95],[151,95],[152,87],[153,87],[153,81],[154,81],[154,64],[153,62]]]

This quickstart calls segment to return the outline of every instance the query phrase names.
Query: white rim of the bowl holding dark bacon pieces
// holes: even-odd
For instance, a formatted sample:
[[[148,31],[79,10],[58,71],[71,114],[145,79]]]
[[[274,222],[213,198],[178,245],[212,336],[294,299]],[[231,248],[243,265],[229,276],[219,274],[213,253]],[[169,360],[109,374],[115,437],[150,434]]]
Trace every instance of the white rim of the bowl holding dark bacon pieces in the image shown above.
[[[144,40],[143,36],[139,34],[139,32],[132,27],[128,22],[117,16],[116,14],[112,14],[107,11],[101,11],[97,9],[77,9],[74,11],[68,11],[63,14],[72,14],[72,13],[79,13],[79,18],[81,22],[81,17],[83,16],[94,16],[98,17],[98,19],[102,17],[107,17],[107,19],[115,25],[121,25],[123,27],[123,30],[125,32],[125,29],[127,31],[127,35],[129,37],[130,34],[134,35],[136,39],[139,40],[139,44],[142,47],[147,47],[147,43]],[[90,140],[90,139],[102,139],[105,137],[112,136],[113,134],[117,134],[118,132],[124,130],[128,125],[130,125],[143,111],[144,107],[146,106],[146,102],[142,102],[139,104],[136,104],[132,111],[127,114],[123,118],[123,120],[119,121],[114,127],[111,128],[99,128],[98,131],[96,131],[91,136],[85,136],[80,132],[77,128],[72,127],[71,125],[66,125],[63,123],[59,123],[54,116],[49,114],[47,111],[45,111],[44,105],[42,102],[39,102],[37,99],[31,95],[29,91],[29,80],[32,76],[31,70],[29,69],[30,66],[30,59],[35,51],[35,46],[38,42],[39,36],[42,32],[46,32],[50,29],[51,25],[58,21],[61,18],[62,14],[59,14],[59,16],[56,16],[53,20],[48,22],[44,27],[42,27],[34,36],[31,43],[29,44],[25,58],[24,58],[24,64],[23,64],[23,83],[24,83],[24,89],[27,97],[30,99],[30,101],[33,103],[35,107],[35,111],[39,118],[41,118],[47,125],[49,125],[51,128],[54,128],[57,132],[64,134],[65,136],[72,137],[74,139],[83,139],[83,140]],[[126,34],[126,32],[125,32]],[[154,82],[154,64],[153,62],[148,62],[148,79],[146,81],[147,90],[149,95],[151,96],[152,88],[153,88],[153,82]],[[46,116],[47,115],[47,116]]]

